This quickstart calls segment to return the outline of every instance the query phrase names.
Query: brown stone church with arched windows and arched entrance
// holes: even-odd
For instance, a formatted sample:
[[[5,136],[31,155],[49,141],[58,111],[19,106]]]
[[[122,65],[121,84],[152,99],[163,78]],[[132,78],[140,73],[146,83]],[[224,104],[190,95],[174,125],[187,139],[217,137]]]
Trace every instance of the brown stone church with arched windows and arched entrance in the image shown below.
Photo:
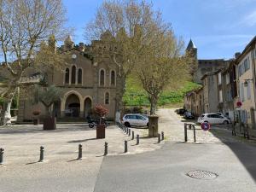
[[[75,45],[72,38],[68,37],[58,49],[70,53],[71,58],[63,72],[54,70],[44,74],[44,79],[47,79],[49,85],[55,84],[63,92],[59,102],[54,103],[55,116],[60,119],[84,119],[91,108],[102,104],[108,108],[107,118],[114,119],[119,67],[110,58],[109,52],[118,49],[110,32],[103,33],[100,40],[93,41],[90,45]],[[38,73],[32,71],[26,73],[26,77],[21,81],[29,85],[32,79],[37,78],[40,78]],[[33,105],[30,99],[24,96],[24,92],[26,90],[20,89],[18,121],[33,119],[34,110],[40,110],[44,116],[44,107],[40,103]]]

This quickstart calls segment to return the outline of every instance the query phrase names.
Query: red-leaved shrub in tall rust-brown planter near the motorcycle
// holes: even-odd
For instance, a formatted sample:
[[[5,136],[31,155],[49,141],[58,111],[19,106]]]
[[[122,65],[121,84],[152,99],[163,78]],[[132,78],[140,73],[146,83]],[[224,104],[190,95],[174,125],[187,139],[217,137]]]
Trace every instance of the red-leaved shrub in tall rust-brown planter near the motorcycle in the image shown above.
[[[96,138],[105,138],[106,130],[106,119],[105,116],[108,113],[108,109],[102,107],[102,105],[96,105],[94,111],[97,115],[97,127],[96,127]]]

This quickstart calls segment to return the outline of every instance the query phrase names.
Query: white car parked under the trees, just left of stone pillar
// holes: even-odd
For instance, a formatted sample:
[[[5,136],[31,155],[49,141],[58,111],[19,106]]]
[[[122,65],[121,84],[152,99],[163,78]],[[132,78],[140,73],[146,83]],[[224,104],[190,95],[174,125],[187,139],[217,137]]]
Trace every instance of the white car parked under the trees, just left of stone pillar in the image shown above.
[[[143,114],[125,114],[122,123],[125,126],[148,126],[148,117]]]

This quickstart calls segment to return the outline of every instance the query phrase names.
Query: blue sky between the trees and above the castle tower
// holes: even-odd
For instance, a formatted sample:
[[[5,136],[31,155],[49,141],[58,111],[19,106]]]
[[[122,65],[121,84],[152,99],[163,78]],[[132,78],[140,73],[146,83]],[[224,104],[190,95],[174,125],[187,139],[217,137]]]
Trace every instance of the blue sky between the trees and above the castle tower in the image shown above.
[[[256,35],[256,0],[152,0],[185,45],[192,38],[199,59],[230,59]],[[102,0],[64,0],[75,44]]]

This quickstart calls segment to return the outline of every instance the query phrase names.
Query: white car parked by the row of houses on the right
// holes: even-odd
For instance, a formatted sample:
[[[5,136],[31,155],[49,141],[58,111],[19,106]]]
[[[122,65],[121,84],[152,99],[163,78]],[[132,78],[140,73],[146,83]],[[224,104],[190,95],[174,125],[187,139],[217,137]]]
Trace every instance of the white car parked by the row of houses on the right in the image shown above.
[[[197,123],[209,123],[209,124],[230,124],[230,119],[226,118],[221,113],[203,113],[198,119]]]

